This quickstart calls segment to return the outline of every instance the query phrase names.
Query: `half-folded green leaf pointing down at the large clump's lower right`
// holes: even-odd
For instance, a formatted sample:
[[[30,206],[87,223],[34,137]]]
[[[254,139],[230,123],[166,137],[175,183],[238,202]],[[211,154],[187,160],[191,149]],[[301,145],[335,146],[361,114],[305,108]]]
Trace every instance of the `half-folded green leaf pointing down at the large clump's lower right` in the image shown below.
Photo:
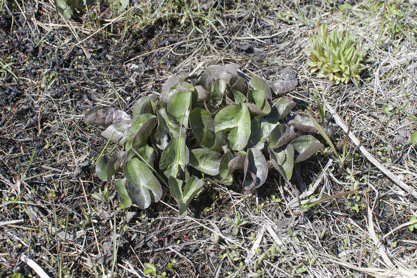
[[[274,168],[286,181],[289,181],[294,168],[294,148],[292,145],[288,144],[286,149],[269,149],[269,157]]]

